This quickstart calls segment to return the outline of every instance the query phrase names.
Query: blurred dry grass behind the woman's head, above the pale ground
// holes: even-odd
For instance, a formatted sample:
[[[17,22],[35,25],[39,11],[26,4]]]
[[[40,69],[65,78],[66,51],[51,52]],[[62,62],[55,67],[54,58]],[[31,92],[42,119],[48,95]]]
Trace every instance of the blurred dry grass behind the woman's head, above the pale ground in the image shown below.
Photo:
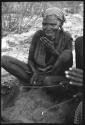
[[[83,16],[82,1],[2,2],[2,36],[9,32],[22,33],[32,27],[41,27],[42,11],[53,6],[61,8],[66,16]]]

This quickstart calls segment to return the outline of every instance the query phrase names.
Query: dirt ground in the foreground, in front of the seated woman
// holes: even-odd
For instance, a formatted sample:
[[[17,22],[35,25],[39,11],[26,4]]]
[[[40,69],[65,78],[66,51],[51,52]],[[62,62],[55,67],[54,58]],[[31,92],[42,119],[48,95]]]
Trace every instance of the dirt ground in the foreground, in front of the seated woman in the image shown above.
[[[46,89],[32,88],[25,90],[20,87],[20,81],[14,77],[10,78],[11,86],[15,86],[15,83],[16,86],[13,87],[13,90],[10,89],[10,94],[3,96],[1,100],[1,115],[5,123],[73,122],[75,106],[77,105],[74,100],[60,104],[60,102],[67,100],[66,98],[62,99],[63,93],[61,99],[54,99]],[[59,105],[57,105],[58,103]],[[49,107],[54,105],[56,106],[53,109],[48,110]]]

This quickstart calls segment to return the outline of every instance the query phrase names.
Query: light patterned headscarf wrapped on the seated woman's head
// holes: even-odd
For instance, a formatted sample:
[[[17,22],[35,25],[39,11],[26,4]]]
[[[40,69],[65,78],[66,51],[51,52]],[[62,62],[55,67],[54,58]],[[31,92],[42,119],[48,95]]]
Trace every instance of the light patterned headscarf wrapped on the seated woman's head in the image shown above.
[[[45,18],[48,15],[55,15],[62,22],[65,22],[64,13],[62,12],[62,10],[60,10],[57,7],[52,7],[52,8],[46,9],[46,11],[43,13],[43,17]]]

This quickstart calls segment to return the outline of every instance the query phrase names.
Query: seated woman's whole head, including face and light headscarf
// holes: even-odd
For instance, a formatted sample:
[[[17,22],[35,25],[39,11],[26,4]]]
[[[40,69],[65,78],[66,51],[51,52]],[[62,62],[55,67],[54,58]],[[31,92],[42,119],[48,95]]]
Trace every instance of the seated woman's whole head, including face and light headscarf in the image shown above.
[[[64,14],[59,8],[48,8],[43,13],[42,28],[47,36],[55,35],[55,31],[61,28],[64,22]]]

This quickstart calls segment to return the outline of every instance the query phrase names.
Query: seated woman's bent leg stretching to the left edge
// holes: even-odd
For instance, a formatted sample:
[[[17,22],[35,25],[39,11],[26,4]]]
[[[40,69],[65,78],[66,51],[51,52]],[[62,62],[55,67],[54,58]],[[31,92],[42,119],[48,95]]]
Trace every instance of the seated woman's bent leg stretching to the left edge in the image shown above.
[[[23,82],[29,82],[32,75],[27,64],[10,56],[1,57],[1,67]]]

